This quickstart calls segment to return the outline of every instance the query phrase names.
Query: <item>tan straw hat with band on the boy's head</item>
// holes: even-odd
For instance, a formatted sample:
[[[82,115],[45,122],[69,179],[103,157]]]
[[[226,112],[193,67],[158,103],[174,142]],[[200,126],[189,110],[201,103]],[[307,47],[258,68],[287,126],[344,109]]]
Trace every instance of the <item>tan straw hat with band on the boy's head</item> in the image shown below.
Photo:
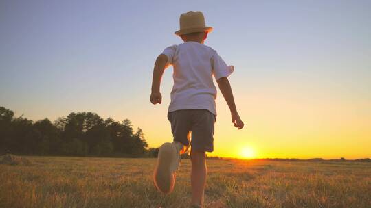
[[[212,27],[205,26],[205,17],[202,12],[187,12],[179,18],[180,29],[175,32],[177,36],[194,32],[212,31]]]

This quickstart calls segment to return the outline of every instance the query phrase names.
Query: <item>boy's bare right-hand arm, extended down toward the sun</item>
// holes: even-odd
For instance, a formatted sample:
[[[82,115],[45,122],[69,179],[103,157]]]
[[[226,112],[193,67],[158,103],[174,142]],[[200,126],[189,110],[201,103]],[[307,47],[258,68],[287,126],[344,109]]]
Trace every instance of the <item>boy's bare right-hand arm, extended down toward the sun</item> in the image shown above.
[[[238,115],[236,104],[234,103],[232,88],[227,77],[221,77],[216,82],[218,83],[219,89],[221,90],[221,93],[223,94],[224,99],[227,101],[228,107],[231,110],[232,122],[234,126],[238,129],[242,129],[244,124]]]

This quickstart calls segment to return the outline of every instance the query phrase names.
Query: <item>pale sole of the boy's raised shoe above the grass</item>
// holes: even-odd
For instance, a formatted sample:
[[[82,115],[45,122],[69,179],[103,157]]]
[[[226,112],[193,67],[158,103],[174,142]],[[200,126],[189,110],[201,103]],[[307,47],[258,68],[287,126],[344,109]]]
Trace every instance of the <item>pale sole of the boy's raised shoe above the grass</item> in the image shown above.
[[[175,162],[177,149],[171,143],[162,144],[157,156],[154,182],[160,192],[170,194],[175,185],[175,172],[171,171],[171,164]]]

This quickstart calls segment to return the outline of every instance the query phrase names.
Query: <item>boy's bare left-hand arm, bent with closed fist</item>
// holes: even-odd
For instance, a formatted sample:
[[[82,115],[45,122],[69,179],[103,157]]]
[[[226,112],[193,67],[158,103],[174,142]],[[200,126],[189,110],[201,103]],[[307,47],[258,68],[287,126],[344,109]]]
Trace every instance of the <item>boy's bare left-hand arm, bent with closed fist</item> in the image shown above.
[[[162,96],[160,93],[161,77],[164,74],[168,57],[164,54],[160,54],[155,62],[155,68],[153,68],[152,78],[152,93],[150,94],[150,102],[152,104],[161,104]]]

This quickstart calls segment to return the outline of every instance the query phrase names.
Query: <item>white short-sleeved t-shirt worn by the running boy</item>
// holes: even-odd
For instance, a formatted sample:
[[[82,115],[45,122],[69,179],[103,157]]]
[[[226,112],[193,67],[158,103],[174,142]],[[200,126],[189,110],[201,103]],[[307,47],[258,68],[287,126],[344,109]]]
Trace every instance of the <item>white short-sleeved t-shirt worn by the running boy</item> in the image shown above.
[[[216,115],[216,88],[212,79],[228,77],[234,66],[227,66],[211,47],[188,41],[167,47],[162,54],[174,67],[174,86],[168,112],[178,109],[207,109]]]

